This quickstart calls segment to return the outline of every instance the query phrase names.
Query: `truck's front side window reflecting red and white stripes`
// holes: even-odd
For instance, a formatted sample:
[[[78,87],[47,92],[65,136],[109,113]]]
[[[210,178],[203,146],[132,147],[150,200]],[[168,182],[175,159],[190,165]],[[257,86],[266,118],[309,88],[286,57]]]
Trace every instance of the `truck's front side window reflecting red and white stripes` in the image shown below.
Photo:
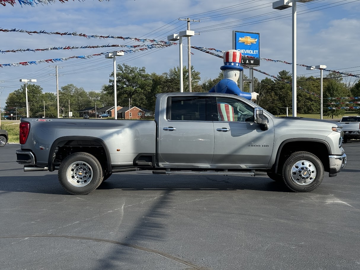
[[[218,121],[254,122],[254,109],[238,99],[216,98]]]

